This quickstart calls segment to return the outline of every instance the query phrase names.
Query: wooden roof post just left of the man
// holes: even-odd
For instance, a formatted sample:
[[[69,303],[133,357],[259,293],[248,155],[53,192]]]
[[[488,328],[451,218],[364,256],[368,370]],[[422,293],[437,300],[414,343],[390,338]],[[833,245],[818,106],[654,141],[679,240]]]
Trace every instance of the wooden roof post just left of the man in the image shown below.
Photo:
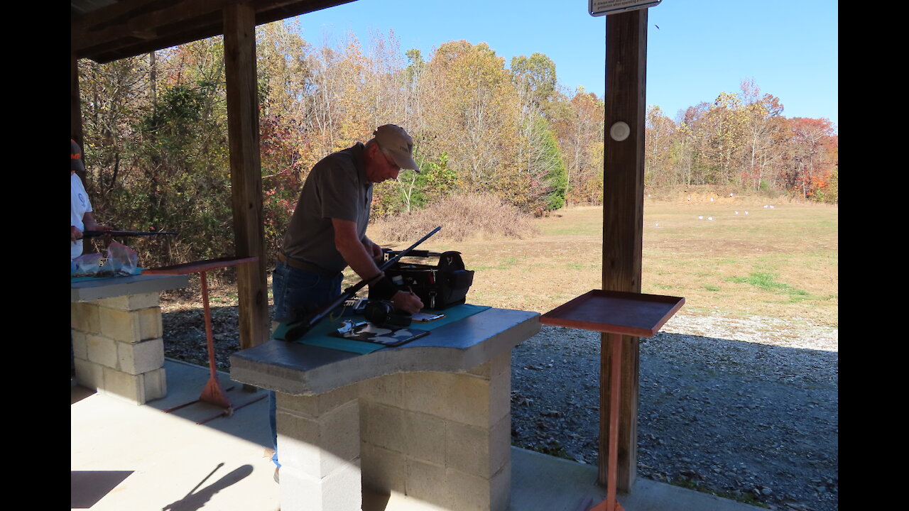
[[[255,75],[255,10],[252,5],[225,6],[225,76],[227,129],[233,188],[235,255],[258,256],[237,266],[240,348],[268,340],[268,289],[262,215],[262,168],[259,158],[259,101]]]

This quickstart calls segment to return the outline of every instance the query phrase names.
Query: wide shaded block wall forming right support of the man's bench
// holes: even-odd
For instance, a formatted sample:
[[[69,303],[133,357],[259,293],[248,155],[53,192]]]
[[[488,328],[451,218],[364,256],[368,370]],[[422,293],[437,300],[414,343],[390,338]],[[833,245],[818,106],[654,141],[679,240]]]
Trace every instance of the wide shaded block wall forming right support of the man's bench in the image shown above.
[[[503,511],[511,491],[511,353],[467,373],[360,384],[363,486],[451,511]]]

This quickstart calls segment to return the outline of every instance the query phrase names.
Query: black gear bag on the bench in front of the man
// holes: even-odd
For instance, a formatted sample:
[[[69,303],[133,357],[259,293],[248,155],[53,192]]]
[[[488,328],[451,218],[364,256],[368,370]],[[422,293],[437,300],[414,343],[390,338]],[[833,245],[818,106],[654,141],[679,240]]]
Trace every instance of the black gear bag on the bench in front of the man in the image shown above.
[[[385,260],[398,254],[399,251],[386,251]],[[391,278],[402,289],[406,290],[409,286],[416,296],[420,297],[424,308],[442,310],[466,302],[467,291],[474,284],[474,272],[464,268],[460,252],[412,250],[405,255],[406,257],[439,258],[435,266],[398,261],[385,268],[385,276]]]

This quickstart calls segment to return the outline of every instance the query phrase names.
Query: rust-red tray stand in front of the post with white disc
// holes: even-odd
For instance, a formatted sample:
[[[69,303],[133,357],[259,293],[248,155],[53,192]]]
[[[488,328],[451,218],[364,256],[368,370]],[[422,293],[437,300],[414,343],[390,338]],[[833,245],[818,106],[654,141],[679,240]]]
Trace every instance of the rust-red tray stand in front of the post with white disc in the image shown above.
[[[540,316],[540,323],[594,330],[612,341],[609,393],[609,460],[606,499],[589,511],[623,511],[615,498],[618,466],[619,377],[622,370],[622,336],[654,336],[682,306],[679,296],[644,295],[594,289]]]

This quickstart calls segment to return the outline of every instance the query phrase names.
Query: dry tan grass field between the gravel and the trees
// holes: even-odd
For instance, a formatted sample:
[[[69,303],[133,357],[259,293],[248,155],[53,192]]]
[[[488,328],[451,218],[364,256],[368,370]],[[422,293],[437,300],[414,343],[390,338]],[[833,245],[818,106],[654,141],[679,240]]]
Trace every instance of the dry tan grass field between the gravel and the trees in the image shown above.
[[[837,326],[838,208],[764,201],[646,199],[642,292],[684,296],[685,315]],[[526,239],[430,238],[420,248],[463,254],[476,272],[470,303],[543,313],[602,286],[602,207],[564,208],[534,225],[539,234]]]

